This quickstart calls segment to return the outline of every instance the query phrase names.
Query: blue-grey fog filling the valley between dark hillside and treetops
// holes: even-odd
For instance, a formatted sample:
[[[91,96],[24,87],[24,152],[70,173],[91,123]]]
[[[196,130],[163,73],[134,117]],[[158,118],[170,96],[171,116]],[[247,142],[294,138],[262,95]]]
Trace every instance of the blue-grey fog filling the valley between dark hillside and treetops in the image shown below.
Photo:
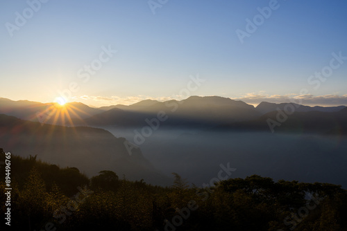
[[[159,127],[142,140],[135,136],[135,130],[141,134],[142,127],[102,128],[138,144],[144,157],[163,174],[177,172],[197,186],[218,178],[220,165],[230,163],[236,169],[231,178],[258,174],[274,180],[347,187],[347,140],[343,136]],[[139,140],[143,142],[139,144]]]

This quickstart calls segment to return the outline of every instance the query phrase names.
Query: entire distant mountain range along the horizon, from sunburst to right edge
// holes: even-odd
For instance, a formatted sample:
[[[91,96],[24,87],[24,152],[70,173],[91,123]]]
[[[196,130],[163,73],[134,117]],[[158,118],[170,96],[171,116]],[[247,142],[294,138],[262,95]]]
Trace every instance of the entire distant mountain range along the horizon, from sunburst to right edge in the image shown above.
[[[161,127],[223,127],[264,131],[302,129],[325,133],[337,132],[339,129],[346,133],[345,111],[345,106],[309,107],[294,103],[262,102],[253,107],[242,101],[218,96],[192,96],[186,100],[165,102],[143,100],[129,106],[118,104],[100,108],[88,107],[81,102],[71,102],[60,107],[53,103],[0,98],[0,113],[65,126],[145,127],[160,122]],[[278,121],[278,113],[284,113],[285,118],[288,118],[286,122]]]

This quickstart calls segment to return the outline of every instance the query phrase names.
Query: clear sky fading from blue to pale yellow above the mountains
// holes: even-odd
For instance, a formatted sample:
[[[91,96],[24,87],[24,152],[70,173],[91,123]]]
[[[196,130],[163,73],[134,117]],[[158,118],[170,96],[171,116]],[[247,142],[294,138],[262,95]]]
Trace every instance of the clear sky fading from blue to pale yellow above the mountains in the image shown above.
[[[347,1],[41,1],[0,2],[0,97],[347,105]]]

